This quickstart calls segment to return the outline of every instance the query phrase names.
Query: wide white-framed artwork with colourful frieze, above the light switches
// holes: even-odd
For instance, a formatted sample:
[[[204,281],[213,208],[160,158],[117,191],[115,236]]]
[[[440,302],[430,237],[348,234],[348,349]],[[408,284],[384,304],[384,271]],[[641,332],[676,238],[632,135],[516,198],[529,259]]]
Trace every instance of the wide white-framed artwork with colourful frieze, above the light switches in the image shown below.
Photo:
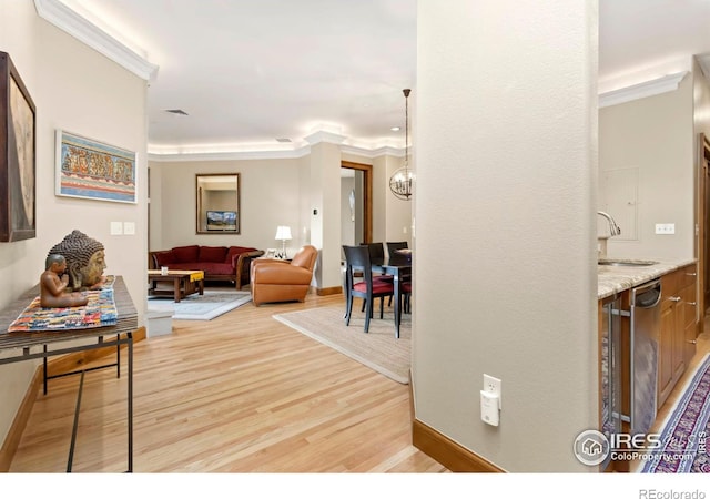
[[[57,131],[58,196],[136,203],[135,153]]]

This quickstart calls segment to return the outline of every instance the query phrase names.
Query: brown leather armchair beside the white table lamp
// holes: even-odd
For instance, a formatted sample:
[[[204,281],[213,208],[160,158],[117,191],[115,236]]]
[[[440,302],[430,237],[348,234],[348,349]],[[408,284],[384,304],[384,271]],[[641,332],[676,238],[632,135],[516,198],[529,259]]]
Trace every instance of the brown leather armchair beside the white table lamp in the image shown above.
[[[256,258],[252,261],[252,302],[255,306],[273,302],[304,302],[318,256],[315,246],[303,246],[291,262]]]

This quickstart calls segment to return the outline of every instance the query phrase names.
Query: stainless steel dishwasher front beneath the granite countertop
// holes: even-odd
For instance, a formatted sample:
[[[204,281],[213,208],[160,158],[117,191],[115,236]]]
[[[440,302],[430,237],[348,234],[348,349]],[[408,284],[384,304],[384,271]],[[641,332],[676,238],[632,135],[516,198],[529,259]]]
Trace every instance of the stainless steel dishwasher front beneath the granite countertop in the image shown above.
[[[661,281],[631,289],[630,427],[646,434],[656,419]]]

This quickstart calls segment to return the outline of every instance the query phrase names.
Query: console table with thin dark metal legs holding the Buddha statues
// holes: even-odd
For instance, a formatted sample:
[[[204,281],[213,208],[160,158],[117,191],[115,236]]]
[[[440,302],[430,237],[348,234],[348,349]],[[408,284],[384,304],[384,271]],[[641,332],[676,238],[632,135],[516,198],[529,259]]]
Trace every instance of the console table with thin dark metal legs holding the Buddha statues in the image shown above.
[[[125,283],[121,276],[115,276],[113,283],[113,297],[118,309],[118,323],[114,326],[94,327],[88,329],[70,330],[41,330],[8,333],[8,328],[20,313],[39,295],[39,284],[24,293],[7,308],[0,310],[0,352],[6,354],[0,358],[0,365],[19,363],[41,358],[43,360],[44,394],[47,394],[47,383],[49,379],[81,375],[77,409],[74,413],[74,427],[72,430],[71,446],[67,471],[71,472],[77,429],[79,422],[79,410],[81,405],[81,390],[83,387],[84,374],[89,370],[102,369],[106,367],[116,368],[116,377],[121,377],[121,345],[128,347],[128,472],[133,471],[133,333],[138,328],[138,313],[133,301],[129,295]],[[115,339],[105,339],[106,337]],[[85,340],[85,344],[75,346],[62,346],[62,343]],[[52,346],[54,348],[50,349]],[[115,346],[116,361],[89,369],[79,369],[54,376],[48,376],[47,359],[55,355],[64,355],[74,352],[85,352]]]

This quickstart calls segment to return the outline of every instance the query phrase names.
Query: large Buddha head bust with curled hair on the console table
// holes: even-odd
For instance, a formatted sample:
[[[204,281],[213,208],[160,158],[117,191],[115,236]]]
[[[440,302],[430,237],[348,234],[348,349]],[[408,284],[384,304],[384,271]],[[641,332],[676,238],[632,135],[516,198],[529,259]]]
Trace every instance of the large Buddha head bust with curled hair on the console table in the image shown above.
[[[72,231],[61,243],[54,245],[49,255],[62,255],[69,273],[68,291],[97,289],[105,282],[106,268],[103,244],[81,231]]]

